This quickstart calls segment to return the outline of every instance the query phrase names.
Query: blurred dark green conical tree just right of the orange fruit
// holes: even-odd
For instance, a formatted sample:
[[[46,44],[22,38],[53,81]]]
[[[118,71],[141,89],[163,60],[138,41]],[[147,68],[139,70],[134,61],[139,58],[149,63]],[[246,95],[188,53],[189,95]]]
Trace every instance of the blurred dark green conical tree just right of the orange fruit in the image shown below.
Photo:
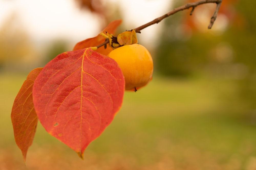
[[[175,1],[175,6],[180,6],[184,2]],[[166,76],[188,76],[193,69],[191,62],[195,58],[191,56],[191,48],[186,40],[184,41],[184,39],[190,38],[190,30],[185,30],[186,28],[183,27],[182,17],[179,12],[163,21],[165,28],[156,50],[155,68]]]

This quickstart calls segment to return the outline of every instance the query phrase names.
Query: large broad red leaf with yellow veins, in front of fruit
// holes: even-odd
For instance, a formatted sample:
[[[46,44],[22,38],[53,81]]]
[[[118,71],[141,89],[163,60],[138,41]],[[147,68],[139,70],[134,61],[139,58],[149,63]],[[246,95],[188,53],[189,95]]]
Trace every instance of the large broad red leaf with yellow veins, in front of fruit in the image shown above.
[[[118,64],[86,48],[51,60],[35,80],[33,101],[46,131],[82,158],[121,108],[124,86]]]

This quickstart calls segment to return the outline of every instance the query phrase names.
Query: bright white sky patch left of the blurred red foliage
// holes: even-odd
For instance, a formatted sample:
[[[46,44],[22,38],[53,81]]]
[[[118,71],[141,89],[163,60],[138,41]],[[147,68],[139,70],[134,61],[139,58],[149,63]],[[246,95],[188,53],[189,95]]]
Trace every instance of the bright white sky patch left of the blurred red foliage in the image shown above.
[[[29,35],[38,40],[79,39],[100,30],[99,19],[72,0],[0,0],[0,25],[16,14]],[[89,23],[89,24],[88,24]]]

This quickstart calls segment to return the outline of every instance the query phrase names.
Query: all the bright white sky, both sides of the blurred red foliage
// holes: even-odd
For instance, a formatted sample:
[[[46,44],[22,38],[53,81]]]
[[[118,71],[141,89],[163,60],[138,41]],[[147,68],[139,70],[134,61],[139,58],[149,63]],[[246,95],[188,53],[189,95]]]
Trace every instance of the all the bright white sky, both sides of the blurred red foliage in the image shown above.
[[[105,0],[117,3],[127,30],[143,25],[170,10],[170,0]],[[104,23],[97,15],[80,10],[74,0],[0,0],[0,27],[11,15],[17,15],[20,25],[32,39],[47,41],[56,38],[79,42],[96,36]],[[104,24],[102,24],[104,23]],[[153,41],[161,24],[143,30],[145,42]],[[124,30],[125,31],[125,30]]]

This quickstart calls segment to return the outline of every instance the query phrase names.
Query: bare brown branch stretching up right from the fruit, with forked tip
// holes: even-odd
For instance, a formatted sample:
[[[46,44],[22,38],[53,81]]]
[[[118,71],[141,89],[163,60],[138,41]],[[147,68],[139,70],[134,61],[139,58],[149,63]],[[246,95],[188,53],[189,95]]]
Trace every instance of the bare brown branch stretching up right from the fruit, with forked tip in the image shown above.
[[[154,19],[153,21],[148,22],[148,23],[146,23],[146,24],[144,24],[144,25],[142,25],[138,28],[135,28],[134,30],[137,33],[141,33],[142,29],[147,28],[150,25],[157,24],[158,22],[162,21],[164,18],[167,18],[170,15],[175,14],[176,12],[179,12],[179,11],[182,11],[182,10],[185,10],[185,9],[189,9],[189,8],[192,7],[192,10],[190,12],[190,15],[192,15],[192,12],[194,11],[195,7],[197,7],[198,5],[207,4],[207,3],[216,3],[217,4],[216,10],[214,12],[214,15],[211,17],[211,22],[210,22],[210,25],[208,26],[208,28],[210,29],[212,27],[214,21],[216,20],[221,2],[222,2],[222,0],[201,0],[201,1],[197,1],[197,2],[191,2],[191,3],[185,4],[183,6],[180,6],[178,8],[175,8],[175,9],[171,10],[170,12],[166,13],[165,15],[163,15],[161,17],[158,17],[158,18]]]

